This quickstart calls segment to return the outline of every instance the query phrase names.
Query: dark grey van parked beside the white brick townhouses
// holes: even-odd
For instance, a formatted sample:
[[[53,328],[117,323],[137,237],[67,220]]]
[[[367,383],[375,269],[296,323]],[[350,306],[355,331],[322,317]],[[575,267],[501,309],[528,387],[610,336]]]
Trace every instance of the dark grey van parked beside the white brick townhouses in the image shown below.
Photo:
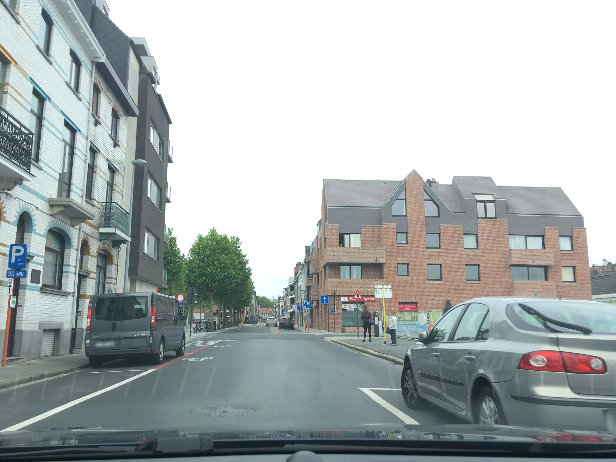
[[[185,312],[174,297],[156,292],[92,295],[87,307],[85,351],[92,367],[120,357],[148,355],[163,362],[164,352],[184,355]]]

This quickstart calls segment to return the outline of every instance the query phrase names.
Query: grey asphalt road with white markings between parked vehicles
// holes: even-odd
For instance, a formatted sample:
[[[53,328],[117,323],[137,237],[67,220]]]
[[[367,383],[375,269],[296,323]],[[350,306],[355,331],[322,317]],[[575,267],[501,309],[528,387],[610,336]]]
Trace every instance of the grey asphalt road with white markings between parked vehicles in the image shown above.
[[[152,366],[118,360],[0,391],[0,430],[272,431],[461,423],[408,409],[402,367],[301,331],[247,325]]]

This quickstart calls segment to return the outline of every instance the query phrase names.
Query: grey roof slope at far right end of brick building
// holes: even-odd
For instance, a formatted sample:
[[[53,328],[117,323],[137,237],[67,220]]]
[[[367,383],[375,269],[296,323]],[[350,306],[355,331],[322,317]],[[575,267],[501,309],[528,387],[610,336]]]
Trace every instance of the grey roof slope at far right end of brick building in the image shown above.
[[[507,213],[582,216],[562,188],[499,186]]]

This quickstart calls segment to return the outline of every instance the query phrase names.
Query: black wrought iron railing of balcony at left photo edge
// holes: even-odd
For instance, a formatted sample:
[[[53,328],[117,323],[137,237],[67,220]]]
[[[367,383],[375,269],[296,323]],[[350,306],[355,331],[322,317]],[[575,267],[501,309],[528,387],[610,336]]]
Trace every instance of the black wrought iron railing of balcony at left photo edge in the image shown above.
[[[30,171],[34,134],[11,113],[0,107],[0,153]]]

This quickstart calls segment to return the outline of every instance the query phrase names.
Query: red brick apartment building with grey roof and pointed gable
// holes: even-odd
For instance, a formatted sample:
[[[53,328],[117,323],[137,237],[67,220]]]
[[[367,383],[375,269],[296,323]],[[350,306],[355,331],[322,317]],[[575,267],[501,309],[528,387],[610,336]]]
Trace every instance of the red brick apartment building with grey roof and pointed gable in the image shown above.
[[[341,297],[374,295],[381,284],[420,311],[488,295],[591,298],[583,217],[561,188],[490,177],[446,185],[416,171],[402,181],[326,179],[314,243],[310,324],[330,331],[334,299],[339,331]]]

